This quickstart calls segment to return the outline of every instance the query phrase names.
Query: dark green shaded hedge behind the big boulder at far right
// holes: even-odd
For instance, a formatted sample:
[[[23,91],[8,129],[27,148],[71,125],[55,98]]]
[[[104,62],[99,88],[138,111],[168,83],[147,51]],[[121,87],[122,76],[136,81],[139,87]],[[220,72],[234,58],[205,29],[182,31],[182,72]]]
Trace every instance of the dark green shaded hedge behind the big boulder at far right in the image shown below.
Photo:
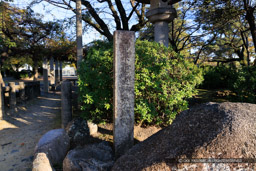
[[[256,102],[256,67],[231,68],[228,66],[205,67],[204,81],[200,86],[206,89],[229,89],[236,94],[236,101]]]

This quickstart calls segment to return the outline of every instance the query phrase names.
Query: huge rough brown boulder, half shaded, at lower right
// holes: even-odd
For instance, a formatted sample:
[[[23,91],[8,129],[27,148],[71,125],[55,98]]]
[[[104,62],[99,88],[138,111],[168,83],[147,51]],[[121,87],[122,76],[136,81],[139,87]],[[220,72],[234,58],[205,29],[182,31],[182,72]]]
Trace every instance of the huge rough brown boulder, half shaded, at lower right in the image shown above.
[[[112,170],[253,170],[255,160],[247,159],[255,158],[256,105],[207,103],[182,112],[120,157]]]

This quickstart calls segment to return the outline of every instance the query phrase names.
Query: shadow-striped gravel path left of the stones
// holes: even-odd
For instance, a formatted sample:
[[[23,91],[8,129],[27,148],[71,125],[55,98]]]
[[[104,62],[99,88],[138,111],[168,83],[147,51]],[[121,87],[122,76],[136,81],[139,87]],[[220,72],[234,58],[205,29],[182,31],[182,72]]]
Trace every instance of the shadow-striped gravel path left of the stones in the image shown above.
[[[60,95],[47,94],[7,111],[0,121],[0,170],[31,171],[34,148],[47,131],[60,128]]]

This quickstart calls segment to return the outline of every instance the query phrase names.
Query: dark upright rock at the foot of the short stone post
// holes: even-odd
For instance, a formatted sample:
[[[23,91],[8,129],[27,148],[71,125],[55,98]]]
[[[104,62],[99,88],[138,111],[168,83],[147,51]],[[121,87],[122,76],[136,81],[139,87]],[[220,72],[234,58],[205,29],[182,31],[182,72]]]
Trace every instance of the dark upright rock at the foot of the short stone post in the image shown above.
[[[75,148],[90,143],[90,129],[87,121],[82,118],[75,118],[68,123],[66,132],[70,137],[70,146]]]

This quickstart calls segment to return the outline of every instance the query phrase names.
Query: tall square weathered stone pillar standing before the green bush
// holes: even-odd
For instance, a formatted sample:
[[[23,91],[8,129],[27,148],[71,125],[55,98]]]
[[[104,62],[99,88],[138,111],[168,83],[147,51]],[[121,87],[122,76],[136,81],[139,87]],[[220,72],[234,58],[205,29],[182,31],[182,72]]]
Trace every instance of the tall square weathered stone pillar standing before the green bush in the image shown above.
[[[134,141],[135,34],[114,33],[114,149],[118,158]]]

